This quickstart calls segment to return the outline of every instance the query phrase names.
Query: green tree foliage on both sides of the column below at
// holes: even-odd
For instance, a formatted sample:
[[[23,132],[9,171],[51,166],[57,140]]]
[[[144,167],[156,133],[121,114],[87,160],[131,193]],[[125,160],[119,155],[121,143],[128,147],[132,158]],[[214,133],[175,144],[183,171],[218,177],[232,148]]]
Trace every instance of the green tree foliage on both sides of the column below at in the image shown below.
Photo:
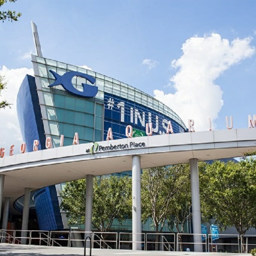
[[[85,180],[66,183],[61,208],[67,212],[69,224],[84,224]],[[120,223],[131,217],[131,178],[95,177],[93,184],[92,223],[100,232],[107,232],[115,218]]]

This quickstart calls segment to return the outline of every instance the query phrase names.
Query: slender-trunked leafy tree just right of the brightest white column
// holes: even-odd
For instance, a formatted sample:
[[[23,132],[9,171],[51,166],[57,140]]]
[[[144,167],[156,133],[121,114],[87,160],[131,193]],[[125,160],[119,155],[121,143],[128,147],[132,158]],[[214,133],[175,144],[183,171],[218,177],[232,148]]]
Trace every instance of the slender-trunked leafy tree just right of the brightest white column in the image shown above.
[[[142,172],[142,220],[152,218],[155,232],[162,232],[171,207],[172,198],[178,192],[182,165],[159,166]],[[159,237],[155,248],[158,249]]]

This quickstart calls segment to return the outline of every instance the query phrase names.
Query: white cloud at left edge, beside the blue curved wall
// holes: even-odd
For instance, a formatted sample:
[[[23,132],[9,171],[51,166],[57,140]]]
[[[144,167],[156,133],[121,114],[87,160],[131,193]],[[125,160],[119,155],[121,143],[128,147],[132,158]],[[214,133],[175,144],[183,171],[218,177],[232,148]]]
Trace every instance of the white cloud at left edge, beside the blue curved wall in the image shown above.
[[[0,126],[0,147],[5,148],[6,154],[8,154],[9,147],[13,144],[16,147],[15,152],[19,152],[22,137],[17,117],[16,99],[18,89],[26,74],[33,75],[33,69],[0,67],[0,75],[5,76],[5,80],[8,82],[6,90],[1,91],[0,101],[5,99],[12,104],[11,108],[0,109],[2,124]]]

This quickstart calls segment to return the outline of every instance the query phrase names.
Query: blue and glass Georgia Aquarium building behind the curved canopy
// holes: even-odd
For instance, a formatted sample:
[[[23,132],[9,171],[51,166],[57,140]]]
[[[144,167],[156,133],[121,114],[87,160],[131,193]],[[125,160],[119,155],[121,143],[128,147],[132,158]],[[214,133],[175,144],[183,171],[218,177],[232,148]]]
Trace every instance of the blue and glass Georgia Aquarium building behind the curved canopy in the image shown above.
[[[75,133],[80,144],[102,141],[109,128],[113,139],[124,138],[127,125],[133,126],[134,137],[146,135],[146,123],[153,124],[153,135],[165,133],[169,121],[174,133],[187,130],[174,111],[130,85],[35,55],[32,63],[35,76],[26,75],[17,97],[27,151],[33,151],[34,140],[39,141],[38,149],[45,149],[47,137],[52,139],[53,147],[72,145]],[[66,227],[66,215],[59,208],[61,187],[44,187],[34,194],[41,230]]]

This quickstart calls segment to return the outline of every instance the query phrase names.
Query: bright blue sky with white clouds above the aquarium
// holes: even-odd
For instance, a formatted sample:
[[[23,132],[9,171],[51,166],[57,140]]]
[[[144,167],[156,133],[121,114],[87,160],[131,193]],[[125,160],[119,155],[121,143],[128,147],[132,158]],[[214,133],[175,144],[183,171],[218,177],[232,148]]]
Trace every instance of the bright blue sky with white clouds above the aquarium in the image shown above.
[[[182,116],[186,117],[186,113],[189,113],[191,118],[201,120],[209,112],[215,129],[226,129],[225,116],[233,116],[234,128],[247,128],[248,114],[256,114],[253,97],[256,93],[255,1],[18,0],[2,9],[7,8],[20,11],[22,16],[18,22],[0,23],[2,74],[3,66],[7,69],[5,72],[32,68],[29,53],[35,51],[30,26],[30,20],[33,20],[38,27],[44,57],[79,66],[87,65],[96,72],[116,78],[152,96],[155,95],[154,90],[162,91],[163,101],[168,102],[175,111],[179,110]],[[212,33],[218,36],[214,37]],[[199,52],[195,49],[198,43],[196,38],[203,40],[203,47],[201,43],[198,44],[197,49],[201,49]],[[237,47],[233,47],[233,40],[237,38],[240,41]],[[227,49],[223,46],[223,39],[229,40]],[[192,45],[188,47],[191,53],[189,56],[201,56],[196,64],[189,58],[181,58],[184,56],[181,47],[187,40]],[[219,46],[222,48],[218,44],[212,45],[213,41],[221,42]],[[244,46],[240,53],[242,46],[239,43]],[[220,55],[219,51],[222,51]],[[207,60],[208,55],[210,60]],[[215,76],[200,80],[202,67],[207,66],[203,70],[204,76],[207,76],[208,70],[212,70],[210,65],[221,66],[226,56],[229,56],[229,60],[224,61],[228,63],[227,67],[220,69]],[[175,69],[171,63],[180,58],[181,66]],[[212,59],[215,59],[213,64]],[[142,64],[143,61],[145,64]],[[190,64],[187,64],[189,61]],[[192,72],[180,74],[180,77],[187,77],[187,81],[176,81],[177,84],[170,82],[183,68]],[[197,78],[199,82],[195,81]],[[203,81],[209,82],[206,90],[197,86]],[[218,89],[219,95],[222,92],[221,98],[216,97],[216,101],[212,100],[214,96],[208,99],[205,95],[215,95],[210,91],[215,85],[218,88],[214,90]],[[14,85],[10,82],[9,86]],[[184,91],[184,98],[187,102],[193,101],[194,107],[182,105],[184,99],[177,95],[168,96],[177,90]],[[191,99],[188,99],[189,96]],[[200,98],[210,103],[204,105]],[[179,104],[184,111],[181,107],[175,107]],[[218,104],[219,107],[216,107]],[[216,108],[213,113],[210,111],[212,108]],[[184,122],[187,124],[187,120]],[[204,125],[198,124],[198,130],[206,129]]]

